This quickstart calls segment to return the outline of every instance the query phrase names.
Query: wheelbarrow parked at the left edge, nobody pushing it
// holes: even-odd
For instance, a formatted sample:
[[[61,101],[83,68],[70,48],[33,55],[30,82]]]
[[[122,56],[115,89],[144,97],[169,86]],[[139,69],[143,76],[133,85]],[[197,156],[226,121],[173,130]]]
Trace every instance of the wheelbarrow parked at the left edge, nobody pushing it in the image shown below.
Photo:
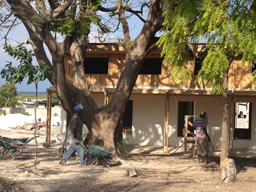
[[[2,150],[2,155],[5,156],[10,151],[12,159],[16,160],[21,158],[22,153],[25,152],[25,145],[33,139],[34,137],[8,138],[0,136],[0,147],[4,149]]]

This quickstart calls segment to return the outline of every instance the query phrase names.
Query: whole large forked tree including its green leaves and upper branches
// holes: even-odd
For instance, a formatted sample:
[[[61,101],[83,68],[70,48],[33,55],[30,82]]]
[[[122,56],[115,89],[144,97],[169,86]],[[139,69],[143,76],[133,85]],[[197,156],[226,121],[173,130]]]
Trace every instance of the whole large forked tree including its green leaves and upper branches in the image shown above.
[[[111,2],[111,3],[110,3]],[[157,31],[163,23],[162,1],[99,1],[99,0],[5,0],[5,12],[9,10],[16,17],[13,23],[21,21],[27,29],[29,43],[36,55],[39,65],[51,69],[48,79],[55,87],[61,104],[67,113],[72,114],[76,104],[84,106],[81,119],[92,132],[92,142],[103,140],[105,146],[114,148],[120,131],[120,120],[130,98],[143,60],[157,42]],[[4,4],[3,4],[4,5]],[[134,10],[131,5],[139,5]],[[143,19],[143,8],[147,8]],[[99,12],[101,11],[101,12]],[[109,32],[102,12],[117,17],[116,27],[122,25],[123,41],[125,42],[126,60],[116,90],[108,105],[99,107],[93,100],[85,82],[83,64],[84,54],[89,45],[90,25],[93,23]],[[128,13],[128,14],[127,14]],[[127,16],[137,16],[143,27],[136,39],[131,40]],[[3,16],[3,15],[2,15]],[[2,25],[10,19],[10,14],[2,17]],[[113,21],[113,19],[111,19]],[[12,25],[5,25],[7,29]],[[57,38],[61,35],[60,38]],[[46,54],[48,49],[51,58]],[[73,66],[73,84],[65,78],[64,57],[70,52]],[[108,134],[106,134],[108,133]]]

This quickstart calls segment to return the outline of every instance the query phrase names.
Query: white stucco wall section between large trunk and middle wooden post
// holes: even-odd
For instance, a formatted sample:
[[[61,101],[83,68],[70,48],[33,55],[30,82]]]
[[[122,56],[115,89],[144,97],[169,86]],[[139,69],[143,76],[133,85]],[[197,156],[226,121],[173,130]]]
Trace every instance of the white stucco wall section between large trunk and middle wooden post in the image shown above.
[[[165,95],[132,94],[133,135],[123,135],[130,144],[163,146]]]

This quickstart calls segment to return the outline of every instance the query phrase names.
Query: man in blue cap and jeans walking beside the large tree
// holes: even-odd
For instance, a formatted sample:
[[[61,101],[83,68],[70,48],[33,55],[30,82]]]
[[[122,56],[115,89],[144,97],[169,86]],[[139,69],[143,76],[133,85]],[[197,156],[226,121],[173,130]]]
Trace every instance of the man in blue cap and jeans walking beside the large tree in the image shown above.
[[[70,119],[69,122],[69,129],[72,133],[72,141],[70,144],[69,149],[67,149],[67,152],[63,155],[61,158],[60,164],[61,166],[67,165],[67,160],[70,158],[70,156],[73,154],[73,152],[76,153],[80,159],[80,167],[83,167],[86,165],[86,160],[84,156],[84,149],[83,147],[78,144],[79,142],[83,143],[83,122],[81,122],[80,115],[82,114],[83,107],[76,105],[73,108],[73,111],[75,114]]]

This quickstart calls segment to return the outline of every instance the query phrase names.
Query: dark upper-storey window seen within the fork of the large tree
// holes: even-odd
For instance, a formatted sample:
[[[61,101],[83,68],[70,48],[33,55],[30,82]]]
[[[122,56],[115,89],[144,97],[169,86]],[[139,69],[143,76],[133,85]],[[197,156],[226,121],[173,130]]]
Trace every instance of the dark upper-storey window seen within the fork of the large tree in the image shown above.
[[[84,59],[84,73],[86,74],[108,74],[108,58]]]

